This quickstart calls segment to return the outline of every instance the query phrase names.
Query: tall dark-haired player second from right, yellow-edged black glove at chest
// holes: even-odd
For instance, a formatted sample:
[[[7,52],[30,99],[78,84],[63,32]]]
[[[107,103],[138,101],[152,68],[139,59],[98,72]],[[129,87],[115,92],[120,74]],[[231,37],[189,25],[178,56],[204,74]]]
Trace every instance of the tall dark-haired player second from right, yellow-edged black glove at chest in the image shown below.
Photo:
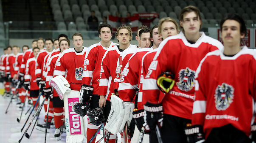
[[[198,8],[183,8],[180,13],[182,32],[160,43],[143,79],[143,100],[147,101],[143,105],[144,127],[146,131],[161,127],[163,143],[187,142],[184,129],[191,123],[195,70],[208,52],[223,49],[218,40],[199,32],[201,24]],[[159,96],[158,86],[166,92],[164,97]]]

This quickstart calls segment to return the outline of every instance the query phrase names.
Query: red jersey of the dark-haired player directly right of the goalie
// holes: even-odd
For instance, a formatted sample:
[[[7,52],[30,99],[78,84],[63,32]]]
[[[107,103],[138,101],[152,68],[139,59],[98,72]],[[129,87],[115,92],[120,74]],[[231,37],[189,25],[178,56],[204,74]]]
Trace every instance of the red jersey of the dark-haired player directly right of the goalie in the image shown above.
[[[110,47],[115,46],[111,41]],[[83,84],[93,86],[93,94],[98,95],[101,60],[107,48],[101,46],[101,42],[90,46],[84,59]]]

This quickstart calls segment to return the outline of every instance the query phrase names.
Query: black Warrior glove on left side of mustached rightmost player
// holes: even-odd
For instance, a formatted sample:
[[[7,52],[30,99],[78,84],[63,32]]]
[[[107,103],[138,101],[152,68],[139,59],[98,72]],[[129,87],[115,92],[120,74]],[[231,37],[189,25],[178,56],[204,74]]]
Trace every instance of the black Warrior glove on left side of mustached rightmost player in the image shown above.
[[[187,136],[188,143],[203,143],[205,141],[202,125],[186,127],[185,134]]]

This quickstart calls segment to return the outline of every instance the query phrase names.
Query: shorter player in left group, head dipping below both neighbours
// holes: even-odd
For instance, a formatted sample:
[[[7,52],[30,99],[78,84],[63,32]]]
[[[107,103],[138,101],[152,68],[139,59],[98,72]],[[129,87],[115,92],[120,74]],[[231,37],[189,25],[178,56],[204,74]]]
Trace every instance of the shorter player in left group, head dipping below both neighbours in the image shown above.
[[[34,57],[28,59],[25,69],[25,76],[24,76],[24,88],[30,91],[30,97],[33,101],[33,105],[37,102],[37,98],[39,96],[39,87],[36,82],[36,74],[35,74],[35,67],[36,67],[36,58],[39,53],[39,48],[33,48]],[[38,106],[38,105],[37,105]]]

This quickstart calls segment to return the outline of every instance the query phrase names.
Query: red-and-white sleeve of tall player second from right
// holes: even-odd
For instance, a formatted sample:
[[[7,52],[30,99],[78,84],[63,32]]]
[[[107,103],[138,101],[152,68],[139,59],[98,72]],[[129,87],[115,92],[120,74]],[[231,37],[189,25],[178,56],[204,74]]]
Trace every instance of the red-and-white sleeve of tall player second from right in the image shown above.
[[[161,43],[160,46],[142,82],[143,103],[147,101],[158,103],[159,100],[162,100],[159,99],[160,90],[156,84],[157,77],[165,71],[174,73],[174,69],[177,68],[177,63],[175,63],[177,60],[175,59],[180,57],[180,47],[173,46],[171,40]]]

